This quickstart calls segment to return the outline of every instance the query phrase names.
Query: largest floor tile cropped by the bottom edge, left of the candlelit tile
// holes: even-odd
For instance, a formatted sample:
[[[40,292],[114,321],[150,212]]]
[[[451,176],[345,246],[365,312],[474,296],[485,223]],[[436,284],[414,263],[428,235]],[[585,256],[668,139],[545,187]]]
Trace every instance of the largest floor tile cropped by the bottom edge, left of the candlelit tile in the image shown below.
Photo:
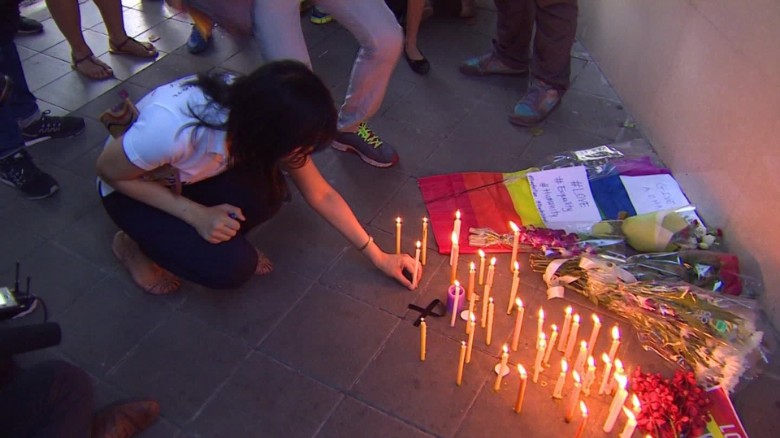
[[[306,375],[255,353],[188,429],[204,437],[310,437],[340,398]]]

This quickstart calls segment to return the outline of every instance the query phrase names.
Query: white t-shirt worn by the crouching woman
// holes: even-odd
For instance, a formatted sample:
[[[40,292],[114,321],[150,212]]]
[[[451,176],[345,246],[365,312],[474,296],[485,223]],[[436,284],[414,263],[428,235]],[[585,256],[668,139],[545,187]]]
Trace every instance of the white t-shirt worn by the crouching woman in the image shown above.
[[[201,126],[192,112],[210,123],[227,120],[228,111],[212,106],[206,111],[206,96],[191,84],[194,76],[162,85],[136,105],[138,120],[124,135],[122,147],[131,163],[144,170],[169,164],[179,171],[182,184],[191,184],[224,172],[228,163],[225,131]],[[101,195],[113,192],[100,182]]]

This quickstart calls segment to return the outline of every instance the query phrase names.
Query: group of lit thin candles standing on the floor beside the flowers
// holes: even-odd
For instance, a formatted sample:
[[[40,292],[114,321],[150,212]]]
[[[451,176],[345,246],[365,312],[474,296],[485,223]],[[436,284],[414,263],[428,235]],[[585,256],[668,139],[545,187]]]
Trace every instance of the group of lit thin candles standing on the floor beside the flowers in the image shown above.
[[[513,222],[509,222],[509,225],[514,233],[514,240],[512,245],[513,248],[512,248],[511,264],[510,264],[510,268],[512,269],[513,276],[512,276],[512,286],[510,288],[510,293],[509,293],[509,306],[507,308],[507,315],[511,315],[513,307],[517,309],[514,329],[512,332],[512,340],[511,340],[512,350],[517,351],[525,309],[523,307],[522,299],[517,297],[517,289],[519,285],[519,263],[517,262],[517,252],[519,246],[518,245],[519,228]],[[471,362],[471,353],[474,345],[474,333],[476,332],[476,315],[474,311],[475,311],[475,304],[477,299],[477,296],[474,293],[474,288],[476,283],[476,278],[475,278],[476,264],[474,262],[471,262],[469,265],[469,279],[465,291],[463,291],[459,281],[457,280],[457,266],[458,266],[458,258],[459,258],[458,243],[459,243],[460,228],[461,228],[460,211],[457,211],[455,213],[455,221],[453,224],[453,231],[452,231],[452,251],[450,252],[450,265],[451,265],[450,283],[452,283],[452,286],[450,287],[450,291],[454,290],[454,297],[453,297],[454,302],[452,303],[452,317],[450,320],[451,327],[454,327],[456,323],[457,313],[459,309],[458,301],[460,299],[460,296],[465,295],[464,299],[468,301],[468,310],[464,310],[463,313],[461,314],[461,318],[467,321],[466,334],[468,335],[468,337],[466,341],[461,342],[460,356],[458,359],[458,370],[456,375],[456,384],[458,386],[460,386],[463,381],[465,364]],[[426,262],[427,237],[428,237],[428,220],[427,218],[423,218],[422,242],[420,241],[416,242],[416,253],[415,253],[415,259],[417,261],[416,265],[419,264],[424,265]],[[396,218],[396,252],[397,253],[401,252],[401,218],[400,217]],[[479,250],[479,256],[480,256],[479,284],[480,285],[484,284],[484,291],[481,297],[482,315],[480,318],[480,325],[482,328],[486,330],[485,343],[486,345],[490,345],[492,340],[492,328],[493,328],[493,319],[495,313],[495,302],[493,298],[490,297],[490,293],[493,286],[493,279],[495,275],[496,258],[493,257],[490,260],[490,265],[488,266],[487,269],[487,276],[485,276],[484,275],[485,274],[485,253],[482,250]],[[416,277],[417,277],[417,272],[415,272],[413,278]],[[452,295],[453,294],[450,294],[450,296]],[[513,303],[515,304],[514,306],[512,305]],[[549,366],[550,356],[557,341],[558,344],[557,349],[558,351],[563,353],[564,357],[563,359],[561,359],[561,372],[558,376],[552,394],[552,397],[555,399],[563,398],[562,395],[563,388],[566,384],[569,375],[568,361],[571,358],[572,354],[574,353],[574,349],[577,344],[577,337],[579,334],[580,322],[581,322],[581,318],[579,314],[572,315],[573,309],[571,306],[568,306],[564,312],[565,312],[564,322],[563,322],[561,332],[559,333],[557,326],[555,324],[552,324],[549,340],[543,330],[545,315],[544,315],[544,310],[541,307],[539,308],[538,319],[537,319],[537,342],[536,342],[537,353],[534,361],[532,381],[534,383],[537,383],[539,379],[539,373],[541,372],[542,367]],[[579,407],[581,422],[577,429],[577,433],[576,433],[577,437],[580,437],[582,435],[585,428],[586,421],[588,419],[587,406],[585,405],[585,402],[583,400],[580,400],[580,395],[581,393],[584,393],[585,395],[590,395],[591,386],[593,385],[596,379],[595,377],[596,364],[592,353],[596,341],[598,339],[599,332],[601,330],[601,320],[596,314],[592,315],[592,320],[593,320],[593,329],[591,331],[589,340],[587,342],[585,340],[582,340],[580,342],[580,349],[577,354],[577,358],[574,362],[574,367],[571,372],[571,376],[573,380],[573,389],[569,395],[569,399],[565,406],[564,420],[566,422],[571,422],[574,419],[574,416],[577,411],[577,407]],[[639,400],[637,399],[636,395],[634,395],[633,409],[628,409],[625,406],[626,399],[628,398],[628,391],[626,390],[628,377],[622,366],[622,362],[620,361],[620,359],[617,359],[615,357],[617,354],[618,346],[620,345],[620,331],[617,325],[615,325],[612,328],[611,334],[612,334],[612,344],[610,346],[609,353],[603,353],[601,356],[602,361],[604,362],[604,370],[599,385],[599,395],[614,393],[614,397],[612,399],[612,403],[610,405],[607,419],[603,426],[603,430],[607,433],[611,432],[619,415],[623,413],[626,416],[627,420],[620,436],[621,438],[629,438],[633,434],[637,426],[636,414],[639,412]],[[426,350],[427,350],[426,341],[427,341],[427,324],[423,319],[420,323],[420,360],[421,361],[424,361],[426,357]],[[500,390],[503,377],[509,373],[509,367],[507,366],[509,360],[509,348],[510,346],[507,344],[503,346],[500,363],[496,365],[497,377],[493,387],[495,391]],[[587,370],[585,370],[586,364],[587,364]],[[525,398],[525,391],[526,391],[527,381],[528,381],[528,373],[521,364],[517,365],[517,370],[518,373],[520,374],[520,386],[518,388],[518,395],[515,402],[514,411],[519,414],[522,412],[522,405]],[[581,377],[583,375],[584,378]]]

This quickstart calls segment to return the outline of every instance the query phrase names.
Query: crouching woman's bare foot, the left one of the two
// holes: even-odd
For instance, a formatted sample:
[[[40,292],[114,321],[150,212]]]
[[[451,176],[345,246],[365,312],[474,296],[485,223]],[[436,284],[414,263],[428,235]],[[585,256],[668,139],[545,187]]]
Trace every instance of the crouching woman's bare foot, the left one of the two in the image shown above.
[[[124,231],[114,235],[111,245],[114,255],[130,272],[138,287],[152,295],[169,294],[181,286],[181,280],[141,252],[141,248]]]

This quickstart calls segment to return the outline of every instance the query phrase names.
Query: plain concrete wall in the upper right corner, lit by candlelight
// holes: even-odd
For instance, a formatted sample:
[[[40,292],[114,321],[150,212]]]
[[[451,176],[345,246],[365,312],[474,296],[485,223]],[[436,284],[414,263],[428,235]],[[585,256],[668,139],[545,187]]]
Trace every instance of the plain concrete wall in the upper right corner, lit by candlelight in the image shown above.
[[[780,1],[583,0],[578,34],[780,327]]]

